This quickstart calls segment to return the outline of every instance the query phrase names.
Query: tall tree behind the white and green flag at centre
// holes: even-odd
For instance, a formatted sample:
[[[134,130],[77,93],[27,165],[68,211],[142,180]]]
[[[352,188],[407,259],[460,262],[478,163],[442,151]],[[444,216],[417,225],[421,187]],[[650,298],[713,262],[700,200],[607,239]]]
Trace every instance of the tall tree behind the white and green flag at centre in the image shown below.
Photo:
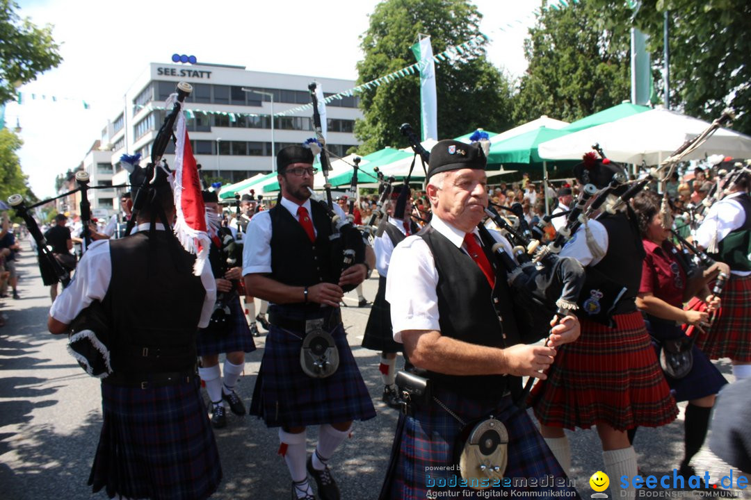
[[[357,63],[362,84],[415,62],[410,46],[418,33],[430,34],[433,52],[480,34],[481,14],[467,0],[385,0],[370,15],[360,37],[365,53]],[[511,116],[511,84],[480,50],[453,62],[436,65],[438,133],[436,139],[469,133],[477,127],[505,130]],[[367,154],[386,146],[405,146],[399,127],[409,122],[420,129],[420,77],[406,76],[363,91],[354,134]]]

